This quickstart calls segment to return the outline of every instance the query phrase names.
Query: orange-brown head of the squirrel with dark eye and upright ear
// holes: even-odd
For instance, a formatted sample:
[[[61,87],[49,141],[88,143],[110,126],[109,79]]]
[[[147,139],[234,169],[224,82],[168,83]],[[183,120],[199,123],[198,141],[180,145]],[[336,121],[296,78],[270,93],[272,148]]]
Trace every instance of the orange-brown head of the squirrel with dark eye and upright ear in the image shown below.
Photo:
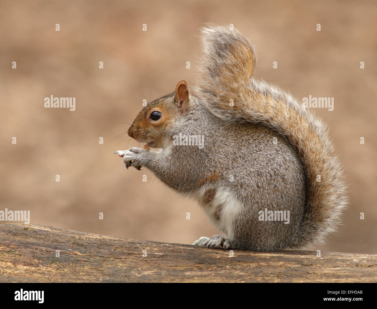
[[[189,90],[181,80],[175,92],[145,106],[128,129],[128,135],[152,148],[166,148],[171,142],[169,129],[189,111]]]

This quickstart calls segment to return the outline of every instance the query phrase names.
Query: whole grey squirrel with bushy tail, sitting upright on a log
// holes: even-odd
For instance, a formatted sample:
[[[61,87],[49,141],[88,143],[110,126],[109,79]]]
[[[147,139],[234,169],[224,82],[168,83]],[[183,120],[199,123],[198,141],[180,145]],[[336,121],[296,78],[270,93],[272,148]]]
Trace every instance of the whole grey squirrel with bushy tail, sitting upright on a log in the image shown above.
[[[206,26],[201,34],[192,91],[181,80],[148,103],[128,130],[147,149],[115,153],[127,169],[145,166],[198,200],[222,235],[193,245],[274,251],[323,244],[348,203],[328,129],[290,94],[253,77],[256,52],[239,31]],[[196,137],[192,145],[187,136]]]

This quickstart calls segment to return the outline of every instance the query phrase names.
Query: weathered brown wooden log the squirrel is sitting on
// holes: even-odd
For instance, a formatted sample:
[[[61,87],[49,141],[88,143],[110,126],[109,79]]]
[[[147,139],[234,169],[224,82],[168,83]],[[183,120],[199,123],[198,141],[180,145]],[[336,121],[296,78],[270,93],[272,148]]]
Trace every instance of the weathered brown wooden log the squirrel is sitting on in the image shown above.
[[[234,250],[230,257],[231,253],[0,224],[0,282],[377,282],[374,254],[322,252],[317,257],[314,251]]]

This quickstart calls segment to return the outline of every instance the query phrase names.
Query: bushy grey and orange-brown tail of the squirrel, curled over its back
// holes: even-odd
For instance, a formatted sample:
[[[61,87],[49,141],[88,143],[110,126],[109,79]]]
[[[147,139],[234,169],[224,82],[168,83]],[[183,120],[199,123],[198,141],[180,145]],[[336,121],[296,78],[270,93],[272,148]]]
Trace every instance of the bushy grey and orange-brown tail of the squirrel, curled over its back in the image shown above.
[[[307,203],[297,247],[323,243],[336,231],[346,206],[342,167],[326,126],[291,95],[252,78],[256,54],[236,29],[202,29],[204,56],[194,91],[203,104],[225,121],[261,123],[294,145],[307,177]]]

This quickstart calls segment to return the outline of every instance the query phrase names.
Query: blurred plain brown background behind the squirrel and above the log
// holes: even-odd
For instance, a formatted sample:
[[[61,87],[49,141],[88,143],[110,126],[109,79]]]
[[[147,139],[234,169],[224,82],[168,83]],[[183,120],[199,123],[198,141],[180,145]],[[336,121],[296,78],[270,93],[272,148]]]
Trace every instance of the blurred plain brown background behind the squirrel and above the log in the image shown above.
[[[334,97],[334,111],[315,113],[330,125],[350,204],[326,246],[308,248],[377,253],[375,1],[1,1],[0,7],[0,210],[30,210],[32,224],[156,241],[191,244],[218,234],[195,201],[146,169],[125,170],[112,152],[142,146],[118,134],[144,98],[172,92],[181,79],[192,85],[204,23],[234,24],[257,49],[256,78],[300,101]],[[44,108],[50,95],[76,97],[76,111]]]

